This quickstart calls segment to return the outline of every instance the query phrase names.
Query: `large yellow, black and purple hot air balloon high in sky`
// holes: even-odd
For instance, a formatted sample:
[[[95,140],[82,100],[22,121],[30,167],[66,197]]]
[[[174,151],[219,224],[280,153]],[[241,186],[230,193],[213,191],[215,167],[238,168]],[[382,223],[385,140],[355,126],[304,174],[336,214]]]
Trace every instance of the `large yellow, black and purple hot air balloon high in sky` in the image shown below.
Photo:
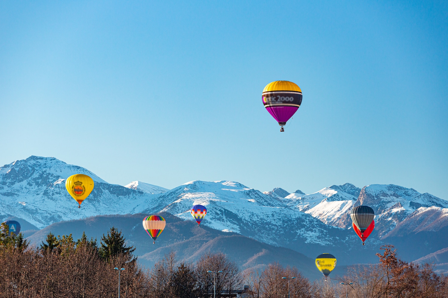
[[[275,81],[264,87],[262,99],[264,107],[279,122],[280,131],[284,131],[283,126],[302,103],[302,90],[293,82]]]

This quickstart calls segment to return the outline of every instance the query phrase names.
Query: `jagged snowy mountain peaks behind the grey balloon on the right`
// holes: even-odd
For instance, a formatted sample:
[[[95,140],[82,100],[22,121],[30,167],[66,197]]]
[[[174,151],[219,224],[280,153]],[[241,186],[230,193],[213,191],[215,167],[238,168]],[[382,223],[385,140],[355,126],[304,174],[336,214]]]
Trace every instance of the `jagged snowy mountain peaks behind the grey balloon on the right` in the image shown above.
[[[375,230],[372,235],[378,235],[380,239],[419,207],[448,208],[448,201],[392,184],[367,185],[362,189],[349,183],[332,185],[307,195],[291,193],[284,201],[293,209],[297,208],[326,224],[342,228],[351,227],[350,211],[354,206],[370,206],[375,210]]]

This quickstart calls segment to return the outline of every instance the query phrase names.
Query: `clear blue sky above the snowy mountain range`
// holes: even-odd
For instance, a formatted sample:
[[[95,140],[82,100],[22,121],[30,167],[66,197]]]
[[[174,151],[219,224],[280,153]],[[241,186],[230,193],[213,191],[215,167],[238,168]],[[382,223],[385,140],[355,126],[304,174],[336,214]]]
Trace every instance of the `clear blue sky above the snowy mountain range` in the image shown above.
[[[448,2],[390,2],[2,1],[0,164],[448,199]],[[284,133],[274,80],[303,92]]]

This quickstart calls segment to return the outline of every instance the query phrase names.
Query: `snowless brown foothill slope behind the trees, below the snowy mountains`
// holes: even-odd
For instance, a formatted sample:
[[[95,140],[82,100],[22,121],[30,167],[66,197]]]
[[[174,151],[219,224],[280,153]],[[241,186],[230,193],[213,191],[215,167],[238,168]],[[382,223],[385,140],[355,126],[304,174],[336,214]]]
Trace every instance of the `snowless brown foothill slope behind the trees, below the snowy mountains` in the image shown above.
[[[100,215],[85,219],[57,222],[28,237],[32,243],[40,244],[50,231],[55,235],[72,233],[73,239],[81,238],[82,232],[98,242],[111,227],[118,228],[126,238],[127,245],[133,245],[135,255],[148,268],[171,251],[180,259],[196,261],[203,253],[224,252],[242,268],[259,268],[271,262],[296,266],[306,277],[314,280],[321,274],[314,260],[287,248],[278,248],[254,239],[217,231],[209,227],[198,227],[195,222],[184,221],[171,214],[162,213],[167,221],[165,230],[155,244],[142,228],[146,214]]]

